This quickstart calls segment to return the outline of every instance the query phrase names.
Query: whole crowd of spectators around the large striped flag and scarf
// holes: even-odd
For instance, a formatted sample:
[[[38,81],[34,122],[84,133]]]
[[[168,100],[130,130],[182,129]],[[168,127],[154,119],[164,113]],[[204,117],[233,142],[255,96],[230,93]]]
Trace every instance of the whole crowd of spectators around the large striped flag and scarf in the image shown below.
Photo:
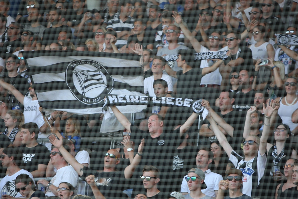
[[[298,197],[297,0],[11,3],[0,0],[2,199]],[[49,50],[139,55],[144,94],[203,98],[208,115],[46,115],[23,53]]]

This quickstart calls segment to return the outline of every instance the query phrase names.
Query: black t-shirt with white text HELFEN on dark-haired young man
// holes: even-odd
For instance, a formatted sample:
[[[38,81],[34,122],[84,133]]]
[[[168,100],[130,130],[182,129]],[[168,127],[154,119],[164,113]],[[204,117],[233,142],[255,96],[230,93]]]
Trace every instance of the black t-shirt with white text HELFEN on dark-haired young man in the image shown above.
[[[50,161],[49,149],[41,144],[37,144],[32,148],[21,145],[20,151],[23,154],[24,169],[29,172],[37,170],[39,164],[48,165]]]

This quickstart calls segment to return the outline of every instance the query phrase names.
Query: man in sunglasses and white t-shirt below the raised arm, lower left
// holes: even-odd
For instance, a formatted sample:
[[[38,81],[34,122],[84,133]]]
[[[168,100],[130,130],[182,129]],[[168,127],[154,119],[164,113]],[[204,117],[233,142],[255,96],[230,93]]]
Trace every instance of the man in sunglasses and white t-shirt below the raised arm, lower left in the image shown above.
[[[61,137],[61,141],[62,141]],[[70,154],[70,149],[68,146],[62,146],[62,148]],[[77,194],[78,190],[78,173],[74,170],[72,166],[70,166],[66,159],[63,157],[62,153],[60,153],[60,150],[56,148],[55,146],[51,146],[51,153],[50,161],[51,164],[57,169],[56,175],[52,178],[50,182],[48,182],[45,179],[40,179],[37,181],[37,184],[42,184],[43,186],[46,186],[46,192],[45,195],[47,197],[51,196],[58,196],[59,197],[59,191],[57,191],[58,186],[61,182],[68,182],[72,186],[74,186],[74,195]],[[73,157],[73,156],[72,156]],[[53,169],[53,168],[52,168]]]

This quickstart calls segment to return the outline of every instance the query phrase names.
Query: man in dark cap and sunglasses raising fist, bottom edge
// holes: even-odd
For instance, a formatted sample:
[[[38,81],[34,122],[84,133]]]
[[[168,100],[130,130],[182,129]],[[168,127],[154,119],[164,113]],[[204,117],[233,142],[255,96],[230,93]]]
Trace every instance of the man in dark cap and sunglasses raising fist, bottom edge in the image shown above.
[[[221,180],[218,187],[218,194],[216,199],[251,199],[251,197],[243,194],[241,188],[243,186],[242,171],[239,169],[229,169],[225,172],[226,180]],[[229,190],[229,197],[224,197],[225,190]]]

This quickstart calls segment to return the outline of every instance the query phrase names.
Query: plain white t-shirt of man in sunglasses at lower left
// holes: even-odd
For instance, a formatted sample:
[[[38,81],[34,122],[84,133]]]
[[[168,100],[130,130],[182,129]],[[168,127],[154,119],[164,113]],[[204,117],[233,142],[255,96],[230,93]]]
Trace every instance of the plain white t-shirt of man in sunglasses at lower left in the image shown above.
[[[50,182],[56,187],[58,187],[61,182],[68,182],[75,187],[74,195],[76,195],[78,189],[78,181],[78,173],[72,166],[66,166],[58,169],[56,175],[54,175]],[[49,188],[47,188],[45,195],[47,197],[55,196],[55,194]]]

